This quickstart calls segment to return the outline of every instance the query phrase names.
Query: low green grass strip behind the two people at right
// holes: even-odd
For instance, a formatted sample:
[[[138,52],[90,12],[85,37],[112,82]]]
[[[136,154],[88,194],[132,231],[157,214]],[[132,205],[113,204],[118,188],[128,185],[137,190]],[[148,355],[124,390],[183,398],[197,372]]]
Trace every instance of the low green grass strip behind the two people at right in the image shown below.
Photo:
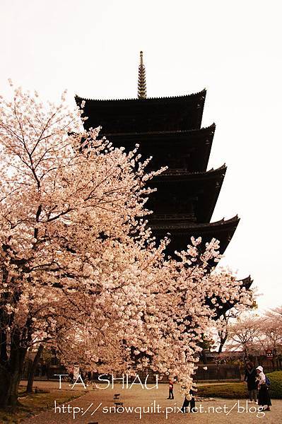
[[[282,399],[282,371],[270,372],[267,373],[267,376],[271,381],[271,398]],[[248,396],[247,384],[245,382],[240,382],[201,386],[198,388],[196,396],[221,397],[225,399],[246,399]]]

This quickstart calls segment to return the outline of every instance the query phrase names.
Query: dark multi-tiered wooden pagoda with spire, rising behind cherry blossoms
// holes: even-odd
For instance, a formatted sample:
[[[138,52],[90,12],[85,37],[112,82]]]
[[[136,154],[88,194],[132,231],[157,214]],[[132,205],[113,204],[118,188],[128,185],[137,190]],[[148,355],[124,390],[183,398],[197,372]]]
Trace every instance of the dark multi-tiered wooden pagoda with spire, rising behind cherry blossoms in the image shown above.
[[[139,144],[142,157],[153,157],[151,167],[168,170],[155,177],[147,207],[153,211],[149,224],[157,239],[170,233],[168,254],[186,249],[191,237],[203,243],[220,241],[221,254],[228,247],[239,218],[211,222],[226,166],[208,170],[215,124],[201,127],[206,90],[190,95],[146,98],[143,54],[139,65],[138,98],[85,101],[85,127],[102,126],[102,135],[127,151]]]

